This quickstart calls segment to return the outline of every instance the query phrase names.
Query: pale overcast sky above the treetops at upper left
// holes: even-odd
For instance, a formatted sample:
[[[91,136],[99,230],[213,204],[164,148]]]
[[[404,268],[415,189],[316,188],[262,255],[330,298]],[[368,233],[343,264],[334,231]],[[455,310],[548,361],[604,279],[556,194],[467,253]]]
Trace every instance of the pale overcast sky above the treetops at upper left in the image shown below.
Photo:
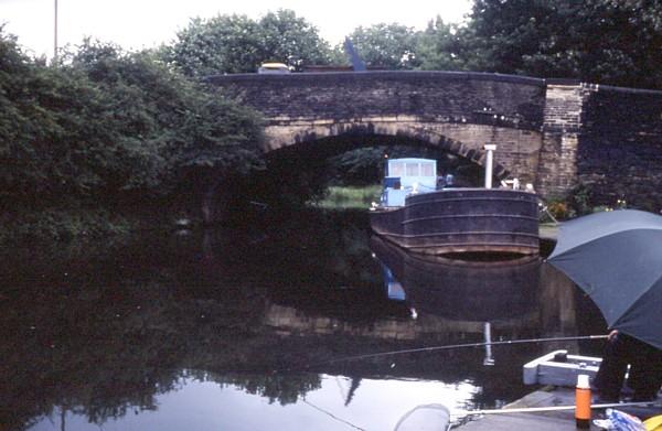
[[[269,11],[291,9],[334,45],[360,25],[397,22],[423,30],[437,15],[461,22],[472,4],[471,0],[0,0],[0,24],[29,54],[50,57],[55,1],[61,47],[92,36],[128,50],[169,43],[195,17],[238,13],[259,19]]]

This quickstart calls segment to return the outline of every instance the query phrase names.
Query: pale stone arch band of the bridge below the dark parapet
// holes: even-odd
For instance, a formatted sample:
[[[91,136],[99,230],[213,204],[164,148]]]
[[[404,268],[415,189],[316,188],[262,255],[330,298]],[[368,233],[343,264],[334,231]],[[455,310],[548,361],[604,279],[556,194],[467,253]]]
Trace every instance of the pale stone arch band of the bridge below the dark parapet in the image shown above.
[[[265,151],[319,141],[342,141],[344,150],[376,144],[419,143],[483,165],[487,143],[499,142],[494,154],[498,179],[534,183],[542,133],[487,125],[440,122],[420,118],[373,117],[353,120],[274,119],[266,127]],[[349,148],[348,148],[349,147]]]

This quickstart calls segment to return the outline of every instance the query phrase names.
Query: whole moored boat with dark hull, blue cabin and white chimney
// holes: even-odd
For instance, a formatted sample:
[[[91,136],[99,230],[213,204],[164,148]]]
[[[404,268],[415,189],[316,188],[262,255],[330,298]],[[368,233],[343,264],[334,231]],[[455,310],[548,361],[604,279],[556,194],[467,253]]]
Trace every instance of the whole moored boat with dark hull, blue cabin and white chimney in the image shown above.
[[[538,255],[538,197],[532,190],[492,187],[491,158],[492,149],[485,187],[455,187],[437,176],[435,160],[387,160],[381,202],[370,211],[372,229],[415,254]]]

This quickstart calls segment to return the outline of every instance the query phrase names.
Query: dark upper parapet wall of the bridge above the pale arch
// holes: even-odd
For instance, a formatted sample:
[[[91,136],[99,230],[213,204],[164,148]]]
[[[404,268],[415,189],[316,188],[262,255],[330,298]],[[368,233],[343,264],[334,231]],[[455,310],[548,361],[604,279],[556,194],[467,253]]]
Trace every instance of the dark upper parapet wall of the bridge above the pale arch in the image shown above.
[[[542,79],[460,72],[365,72],[210,77],[274,121],[418,116],[537,130]]]

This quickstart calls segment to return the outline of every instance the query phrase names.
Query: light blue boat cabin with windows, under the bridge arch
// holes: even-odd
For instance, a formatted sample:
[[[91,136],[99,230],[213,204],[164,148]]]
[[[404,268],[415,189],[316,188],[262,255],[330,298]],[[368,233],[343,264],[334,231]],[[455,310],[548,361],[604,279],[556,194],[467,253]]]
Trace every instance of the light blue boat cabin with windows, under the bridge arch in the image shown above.
[[[410,194],[437,190],[437,161],[431,159],[389,159],[386,163],[383,206],[404,206]]]

